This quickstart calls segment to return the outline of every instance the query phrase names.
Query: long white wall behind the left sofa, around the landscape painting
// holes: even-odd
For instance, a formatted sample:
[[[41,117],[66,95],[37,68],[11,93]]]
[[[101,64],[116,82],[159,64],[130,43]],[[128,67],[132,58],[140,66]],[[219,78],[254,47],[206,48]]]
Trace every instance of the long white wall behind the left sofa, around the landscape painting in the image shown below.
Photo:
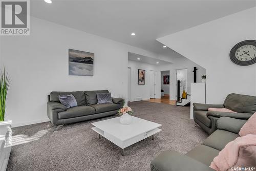
[[[30,36],[1,36],[0,56],[11,76],[6,120],[13,125],[47,121],[51,91],[109,89],[127,97],[127,52],[157,57],[120,42],[35,17]],[[68,75],[68,49],[94,53],[94,76]]]

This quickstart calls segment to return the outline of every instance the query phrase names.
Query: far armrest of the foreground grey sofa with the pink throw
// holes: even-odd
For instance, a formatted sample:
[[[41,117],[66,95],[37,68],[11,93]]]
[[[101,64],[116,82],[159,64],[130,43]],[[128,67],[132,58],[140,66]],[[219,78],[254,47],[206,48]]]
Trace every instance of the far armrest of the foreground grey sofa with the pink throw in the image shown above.
[[[245,124],[246,121],[247,120],[221,117],[217,121],[217,128],[219,130],[226,130],[238,134],[241,130],[241,127]]]

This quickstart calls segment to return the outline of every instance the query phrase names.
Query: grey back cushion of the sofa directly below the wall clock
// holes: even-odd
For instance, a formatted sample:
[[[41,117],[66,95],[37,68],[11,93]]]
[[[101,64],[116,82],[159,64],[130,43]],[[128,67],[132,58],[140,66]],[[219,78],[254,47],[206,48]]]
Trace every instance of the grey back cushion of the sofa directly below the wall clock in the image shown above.
[[[227,95],[224,106],[238,113],[254,113],[256,112],[256,97],[232,93]]]

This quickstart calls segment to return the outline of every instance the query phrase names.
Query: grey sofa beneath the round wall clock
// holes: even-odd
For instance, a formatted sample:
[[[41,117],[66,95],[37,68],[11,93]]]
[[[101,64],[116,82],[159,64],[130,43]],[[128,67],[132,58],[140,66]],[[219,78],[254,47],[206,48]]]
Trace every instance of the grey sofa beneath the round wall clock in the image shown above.
[[[222,117],[231,117],[248,120],[256,112],[256,97],[229,94],[223,104],[201,104],[194,105],[194,121],[208,134],[217,130],[216,122]],[[227,108],[238,113],[208,111],[208,108]]]

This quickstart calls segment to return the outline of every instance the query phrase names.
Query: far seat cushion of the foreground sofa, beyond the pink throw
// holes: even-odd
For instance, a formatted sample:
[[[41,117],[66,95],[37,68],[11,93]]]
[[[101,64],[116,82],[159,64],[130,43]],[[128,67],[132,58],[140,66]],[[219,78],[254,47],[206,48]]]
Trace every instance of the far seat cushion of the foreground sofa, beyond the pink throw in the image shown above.
[[[227,143],[233,141],[237,137],[239,137],[238,134],[225,130],[216,130],[208,138],[206,138],[202,144],[221,151]]]

